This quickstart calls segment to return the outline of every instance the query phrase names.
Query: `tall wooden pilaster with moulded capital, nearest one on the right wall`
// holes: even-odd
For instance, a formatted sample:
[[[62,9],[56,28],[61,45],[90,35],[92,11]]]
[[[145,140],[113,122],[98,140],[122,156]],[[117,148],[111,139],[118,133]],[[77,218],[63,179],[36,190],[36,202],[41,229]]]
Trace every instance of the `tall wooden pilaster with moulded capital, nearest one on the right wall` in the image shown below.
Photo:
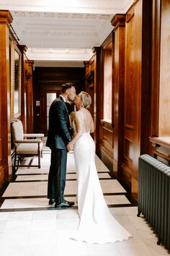
[[[112,21],[115,34],[113,59],[113,172],[117,176],[118,166],[122,162],[123,123],[124,123],[124,88],[125,88],[125,14],[116,14]]]

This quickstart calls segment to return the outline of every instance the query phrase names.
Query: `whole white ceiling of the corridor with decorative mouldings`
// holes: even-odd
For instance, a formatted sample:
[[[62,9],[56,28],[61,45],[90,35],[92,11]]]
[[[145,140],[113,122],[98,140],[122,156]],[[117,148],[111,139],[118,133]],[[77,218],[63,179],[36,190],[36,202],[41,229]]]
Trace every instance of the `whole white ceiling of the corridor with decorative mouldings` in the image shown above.
[[[113,27],[116,13],[133,0],[1,0],[12,13],[19,44],[35,66],[83,66],[92,48],[100,46]]]

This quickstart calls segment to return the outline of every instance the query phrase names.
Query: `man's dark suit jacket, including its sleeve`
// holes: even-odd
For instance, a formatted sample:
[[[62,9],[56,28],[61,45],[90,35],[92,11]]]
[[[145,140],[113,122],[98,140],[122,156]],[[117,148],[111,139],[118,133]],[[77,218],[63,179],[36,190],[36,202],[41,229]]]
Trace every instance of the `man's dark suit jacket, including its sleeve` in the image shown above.
[[[68,110],[63,98],[56,98],[50,106],[48,139],[46,146],[50,149],[66,149],[71,141]]]

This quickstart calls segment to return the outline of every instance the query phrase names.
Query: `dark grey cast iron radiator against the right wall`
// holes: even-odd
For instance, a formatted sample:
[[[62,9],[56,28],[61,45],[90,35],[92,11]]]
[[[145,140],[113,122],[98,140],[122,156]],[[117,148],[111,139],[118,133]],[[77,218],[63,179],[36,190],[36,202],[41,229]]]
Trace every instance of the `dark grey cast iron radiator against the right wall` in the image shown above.
[[[157,244],[170,250],[170,166],[151,155],[140,155],[138,216],[143,214],[158,236]]]

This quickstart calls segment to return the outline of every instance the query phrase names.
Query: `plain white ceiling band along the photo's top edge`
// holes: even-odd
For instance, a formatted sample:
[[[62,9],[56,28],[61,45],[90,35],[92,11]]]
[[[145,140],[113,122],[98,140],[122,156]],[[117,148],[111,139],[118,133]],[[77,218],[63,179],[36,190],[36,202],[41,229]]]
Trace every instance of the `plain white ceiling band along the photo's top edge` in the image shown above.
[[[27,12],[64,12],[88,14],[115,14],[123,12],[125,7],[120,0],[91,0],[91,1],[20,1],[9,0],[1,4],[1,9]]]

